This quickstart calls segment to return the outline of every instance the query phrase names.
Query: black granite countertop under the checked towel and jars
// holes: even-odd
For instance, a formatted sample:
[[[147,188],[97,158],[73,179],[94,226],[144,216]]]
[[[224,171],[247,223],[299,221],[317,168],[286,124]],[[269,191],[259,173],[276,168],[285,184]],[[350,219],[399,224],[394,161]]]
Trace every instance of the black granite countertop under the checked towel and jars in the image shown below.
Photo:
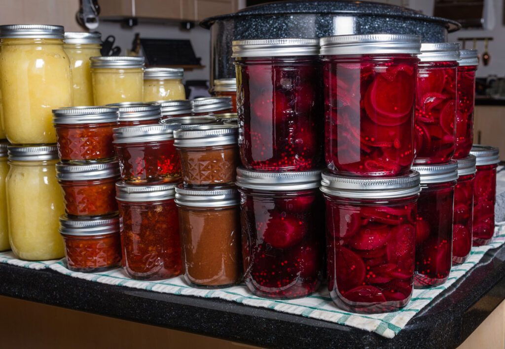
[[[0,294],[264,347],[457,347],[505,298],[505,245],[393,339],[217,298],[172,295],[0,263]]]

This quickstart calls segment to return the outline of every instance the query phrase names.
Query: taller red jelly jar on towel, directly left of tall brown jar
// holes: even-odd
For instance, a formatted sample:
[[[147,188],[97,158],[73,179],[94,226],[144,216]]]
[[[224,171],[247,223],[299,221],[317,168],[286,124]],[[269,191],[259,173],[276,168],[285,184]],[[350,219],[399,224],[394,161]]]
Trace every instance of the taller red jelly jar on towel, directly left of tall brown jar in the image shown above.
[[[133,279],[163,280],[181,274],[176,185],[116,183],[122,265]]]

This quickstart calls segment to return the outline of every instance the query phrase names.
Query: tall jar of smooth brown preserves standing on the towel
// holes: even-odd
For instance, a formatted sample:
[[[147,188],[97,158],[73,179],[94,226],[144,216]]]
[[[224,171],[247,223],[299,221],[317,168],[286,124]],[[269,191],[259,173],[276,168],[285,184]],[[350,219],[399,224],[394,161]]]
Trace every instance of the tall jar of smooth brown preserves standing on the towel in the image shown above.
[[[242,278],[240,197],[235,187],[175,188],[184,279],[193,287],[224,288]]]

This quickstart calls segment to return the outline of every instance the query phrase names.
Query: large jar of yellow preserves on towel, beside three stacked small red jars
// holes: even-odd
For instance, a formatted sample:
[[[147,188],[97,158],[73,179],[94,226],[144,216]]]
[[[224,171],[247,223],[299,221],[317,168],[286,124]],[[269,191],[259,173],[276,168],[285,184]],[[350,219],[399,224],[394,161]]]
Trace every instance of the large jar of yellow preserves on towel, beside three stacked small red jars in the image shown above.
[[[64,256],[58,218],[65,213],[56,180],[56,145],[9,146],[7,212],[12,252],[23,260]]]

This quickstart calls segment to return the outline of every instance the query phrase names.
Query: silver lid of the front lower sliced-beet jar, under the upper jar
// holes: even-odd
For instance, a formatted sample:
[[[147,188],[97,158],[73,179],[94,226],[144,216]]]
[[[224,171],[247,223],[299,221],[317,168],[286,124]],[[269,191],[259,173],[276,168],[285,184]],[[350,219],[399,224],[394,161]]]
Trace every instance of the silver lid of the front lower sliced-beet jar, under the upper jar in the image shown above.
[[[408,197],[421,191],[420,175],[416,171],[397,177],[348,177],[325,170],[322,177],[321,191],[341,197],[388,199]]]

